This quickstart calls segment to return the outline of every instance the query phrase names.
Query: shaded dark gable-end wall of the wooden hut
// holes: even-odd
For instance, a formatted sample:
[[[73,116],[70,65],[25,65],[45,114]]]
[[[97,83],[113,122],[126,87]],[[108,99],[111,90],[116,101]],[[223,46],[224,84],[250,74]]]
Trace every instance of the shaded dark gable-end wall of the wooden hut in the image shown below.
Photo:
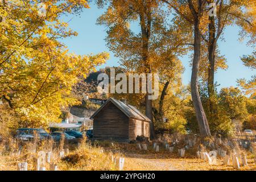
[[[94,140],[129,140],[129,118],[109,102],[93,119]]]

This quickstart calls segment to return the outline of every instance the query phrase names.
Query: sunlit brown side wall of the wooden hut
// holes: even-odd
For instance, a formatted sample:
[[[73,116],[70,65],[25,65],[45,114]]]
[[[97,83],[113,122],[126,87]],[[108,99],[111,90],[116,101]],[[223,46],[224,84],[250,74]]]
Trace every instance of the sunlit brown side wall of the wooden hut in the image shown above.
[[[139,135],[144,137],[150,137],[149,125],[147,121],[140,121],[138,119],[129,119],[129,140],[135,140]]]

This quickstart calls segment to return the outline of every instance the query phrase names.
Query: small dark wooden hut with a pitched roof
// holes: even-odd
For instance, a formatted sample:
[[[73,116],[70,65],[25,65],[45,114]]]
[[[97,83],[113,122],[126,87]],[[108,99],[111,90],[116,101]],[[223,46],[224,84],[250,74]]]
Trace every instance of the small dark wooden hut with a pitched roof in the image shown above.
[[[150,119],[134,106],[109,98],[93,115],[93,140],[129,142],[150,137]]]

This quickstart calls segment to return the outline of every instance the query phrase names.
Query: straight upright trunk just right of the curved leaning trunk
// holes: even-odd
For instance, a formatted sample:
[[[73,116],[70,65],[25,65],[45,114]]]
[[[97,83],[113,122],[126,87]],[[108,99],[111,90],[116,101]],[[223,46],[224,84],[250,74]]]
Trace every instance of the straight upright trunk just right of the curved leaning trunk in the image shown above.
[[[214,95],[214,66],[215,66],[215,51],[216,51],[216,27],[215,27],[215,19],[214,16],[209,16],[209,42],[208,42],[208,60],[209,60],[209,68],[208,68],[208,96],[209,96],[209,106],[210,113],[213,113],[213,95]]]

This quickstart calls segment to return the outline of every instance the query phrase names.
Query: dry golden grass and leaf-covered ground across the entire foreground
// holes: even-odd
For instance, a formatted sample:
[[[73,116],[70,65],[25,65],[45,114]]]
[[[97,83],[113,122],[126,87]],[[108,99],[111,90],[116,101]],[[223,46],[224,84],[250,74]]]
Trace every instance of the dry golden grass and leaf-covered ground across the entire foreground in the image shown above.
[[[80,146],[70,145],[65,142],[56,144],[52,140],[44,142],[19,143],[9,139],[0,145],[0,170],[17,170],[20,162],[28,162],[28,170],[35,170],[35,159],[38,158],[38,151],[52,151],[52,162],[57,164],[59,170],[81,170],[81,171],[110,171],[118,170],[118,159],[120,156],[125,158],[124,170],[235,170],[232,162],[228,166],[222,165],[223,159],[218,158],[217,163],[209,165],[201,159],[196,158],[196,151],[208,151],[209,148],[200,146],[197,143],[194,147],[185,151],[185,158],[177,155],[177,149],[183,147],[184,142],[174,146],[174,152],[164,147],[164,142],[158,142],[159,152],[153,148],[152,142],[147,143],[147,151],[139,150],[136,143],[115,143],[115,142],[86,142],[81,141]],[[170,142],[170,141],[167,141]],[[141,143],[142,144],[142,143]],[[225,142],[218,147],[225,148],[230,152],[230,147],[225,146]],[[20,155],[18,155],[19,146],[23,146]],[[69,148],[69,154],[64,158],[59,157],[63,148]],[[246,154],[248,166],[241,166],[240,170],[256,170],[254,163],[255,154],[239,148],[234,143],[234,148],[238,154]],[[255,145],[252,146],[255,151]],[[37,152],[35,152],[35,149]],[[116,163],[112,160],[116,159]],[[241,164],[240,160],[240,164]],[[46,170],[49,170],[49,164],[45,164]]]

